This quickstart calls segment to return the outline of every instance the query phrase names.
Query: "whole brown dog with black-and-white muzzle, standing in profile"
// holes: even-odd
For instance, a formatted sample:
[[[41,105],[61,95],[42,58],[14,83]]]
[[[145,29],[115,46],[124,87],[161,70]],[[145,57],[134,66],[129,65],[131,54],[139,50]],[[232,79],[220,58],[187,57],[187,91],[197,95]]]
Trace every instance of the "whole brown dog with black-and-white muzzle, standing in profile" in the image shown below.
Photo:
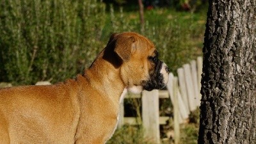
[[[1,89],[0,143],[106,143],[126,88],[140,92],[168,82],[168,67],[157,55],[138,33],[113,34],[76,79]]]

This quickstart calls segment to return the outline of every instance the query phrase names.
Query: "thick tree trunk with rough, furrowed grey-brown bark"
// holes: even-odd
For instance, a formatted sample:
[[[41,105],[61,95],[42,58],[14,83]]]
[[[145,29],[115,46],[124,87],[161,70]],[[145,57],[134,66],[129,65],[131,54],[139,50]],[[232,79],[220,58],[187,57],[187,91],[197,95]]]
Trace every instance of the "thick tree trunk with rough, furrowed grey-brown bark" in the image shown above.
[[[198,143],[256,143],[256,1],[210,0]]]

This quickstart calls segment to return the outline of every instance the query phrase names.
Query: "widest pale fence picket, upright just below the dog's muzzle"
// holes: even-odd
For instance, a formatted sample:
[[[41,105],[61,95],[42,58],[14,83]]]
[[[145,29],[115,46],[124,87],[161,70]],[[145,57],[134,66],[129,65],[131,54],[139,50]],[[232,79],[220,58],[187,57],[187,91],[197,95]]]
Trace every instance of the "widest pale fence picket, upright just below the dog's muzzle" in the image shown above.
[[[142,92],[142,124],[145,136],[154,143],[160,143],[159,131],[159,91]]]

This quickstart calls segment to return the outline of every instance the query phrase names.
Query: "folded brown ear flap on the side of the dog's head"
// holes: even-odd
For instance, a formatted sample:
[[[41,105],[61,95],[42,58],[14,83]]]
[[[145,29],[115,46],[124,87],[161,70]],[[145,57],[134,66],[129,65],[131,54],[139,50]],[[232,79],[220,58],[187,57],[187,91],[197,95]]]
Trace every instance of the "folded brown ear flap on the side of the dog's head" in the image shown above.
[[[128,61],[136,49],[135,42],[134,36],[117,36],[114,51],[123,61]]]

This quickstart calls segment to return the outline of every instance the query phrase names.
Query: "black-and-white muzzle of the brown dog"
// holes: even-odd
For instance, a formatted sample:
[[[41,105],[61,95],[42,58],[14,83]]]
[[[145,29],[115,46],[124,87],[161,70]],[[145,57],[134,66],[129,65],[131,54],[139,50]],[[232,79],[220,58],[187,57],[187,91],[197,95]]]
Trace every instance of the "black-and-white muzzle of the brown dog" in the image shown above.
[[[150,76],[150,79],[142,82],[143,90],[154,90],[154,89],[162,89],[168,83],[169,77],[169,68],[165,63],[159,61],[156,65],[156,69],[154,74]]]

